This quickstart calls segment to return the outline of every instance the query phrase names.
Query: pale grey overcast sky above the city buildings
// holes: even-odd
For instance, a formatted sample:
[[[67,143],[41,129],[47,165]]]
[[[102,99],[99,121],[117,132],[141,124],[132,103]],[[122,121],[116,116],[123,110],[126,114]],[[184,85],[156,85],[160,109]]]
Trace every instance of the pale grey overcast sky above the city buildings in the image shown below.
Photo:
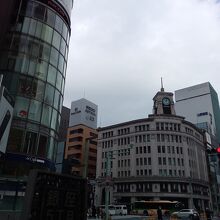
[[[220,94],[217,0],[75,0],[64,105],[98,105],[98,126],[147,117],[160,90],[209,81]]]

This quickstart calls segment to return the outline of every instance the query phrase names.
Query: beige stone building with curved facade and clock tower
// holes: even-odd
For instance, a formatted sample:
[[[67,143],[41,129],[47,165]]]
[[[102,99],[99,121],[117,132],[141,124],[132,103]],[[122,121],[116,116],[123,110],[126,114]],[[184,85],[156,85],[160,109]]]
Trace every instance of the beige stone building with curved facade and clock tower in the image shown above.
[[[203,133],[176,115],[172,93],[161,89],[153,102],[148,118],[98,130],[96,205],[104,203],[101,182],[112,151],[110,203],[162,199],[211,206]]]

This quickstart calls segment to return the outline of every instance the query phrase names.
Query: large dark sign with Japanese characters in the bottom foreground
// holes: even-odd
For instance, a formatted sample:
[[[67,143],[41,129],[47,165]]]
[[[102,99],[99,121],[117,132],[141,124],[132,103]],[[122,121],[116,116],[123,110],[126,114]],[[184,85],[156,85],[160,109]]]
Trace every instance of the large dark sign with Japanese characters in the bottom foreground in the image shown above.
[[[22,220],[86,220],[86,180],[32,170]]]

